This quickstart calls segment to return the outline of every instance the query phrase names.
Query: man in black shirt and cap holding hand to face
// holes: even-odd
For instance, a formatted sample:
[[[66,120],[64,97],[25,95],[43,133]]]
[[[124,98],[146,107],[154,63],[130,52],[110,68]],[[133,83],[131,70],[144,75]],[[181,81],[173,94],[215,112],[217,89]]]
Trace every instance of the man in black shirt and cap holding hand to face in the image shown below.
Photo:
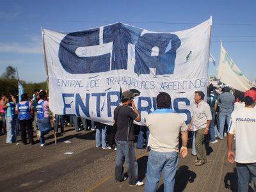
[[[116,182],[121,182],[124,177],[124,162],[126,160],[129,176],[129,186],[142,186],[138,180],[138,164],[134,151],[134,127],[133,120],[140,122],[140,113],[132,100],[134,94],[131,91],[122,93],[122,104],[114,111],[114,123],[117,125],[116,140]]]

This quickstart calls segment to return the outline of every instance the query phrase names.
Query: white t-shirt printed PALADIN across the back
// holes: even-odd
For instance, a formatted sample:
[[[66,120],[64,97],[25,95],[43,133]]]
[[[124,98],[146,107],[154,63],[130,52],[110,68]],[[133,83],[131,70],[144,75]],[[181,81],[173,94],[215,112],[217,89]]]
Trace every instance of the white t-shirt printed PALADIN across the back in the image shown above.
[[[228,132],[236,136],[237,163],[256,163],[256,111],[241,108],[231,115]]]

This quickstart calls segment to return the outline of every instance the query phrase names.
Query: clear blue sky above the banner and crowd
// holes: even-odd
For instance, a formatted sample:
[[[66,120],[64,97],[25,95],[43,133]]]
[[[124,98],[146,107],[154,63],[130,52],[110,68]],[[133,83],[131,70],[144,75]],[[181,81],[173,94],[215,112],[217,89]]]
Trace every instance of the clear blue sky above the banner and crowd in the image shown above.
[[[41,26],[54,31],[77,31],[121,21],[151,31],[172,32],[191,28],[196,25],[193,23],[204,22],[212,15],[211,53],[216,63],[220,55],[220,40],[223,40],[225,49],[243,74],[254,81],[255,10],[254,0],[0,0],[0,74],[12,65],[18,67],[22,80],[45,81]],[[216,67],[211,63],[209,74],[216,74]]]

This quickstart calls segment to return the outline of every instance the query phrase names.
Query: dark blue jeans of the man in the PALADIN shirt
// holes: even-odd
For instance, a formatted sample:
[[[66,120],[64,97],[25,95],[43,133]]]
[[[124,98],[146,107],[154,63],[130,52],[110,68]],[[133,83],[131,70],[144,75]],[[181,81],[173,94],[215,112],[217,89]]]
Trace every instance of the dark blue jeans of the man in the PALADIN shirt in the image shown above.
[[[248,184],[252,179],[256,191],[256,163],[236,163],[238,191],[248,191]]]

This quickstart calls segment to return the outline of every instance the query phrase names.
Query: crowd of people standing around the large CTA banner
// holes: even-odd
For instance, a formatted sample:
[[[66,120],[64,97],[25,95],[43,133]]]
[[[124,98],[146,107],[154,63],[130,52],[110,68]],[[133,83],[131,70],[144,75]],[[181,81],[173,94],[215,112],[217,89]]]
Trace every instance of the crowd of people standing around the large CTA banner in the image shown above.
[[[138,180],[138,164],[134,150],[134,121],[140,122],[140,113],[134,105],[131,91],[122,93],[122,103],[115,108],[114,125],[104,125],[77,116],[53,114],[54,132],[62,135],[65,125],[73,125],[76,131],[96,129],[95,147],[116,150],[115,180],[122,182],[124,163],[127,163],[129,185],[142,186]],[[171,108],[168,93],[157,95],[157,109],[146,117],[147,126],[140,126],[136,147],[147,148],[147,182],[145,191],[156,191],[160,175],[163,175],[164,191],[173,191],[175,173],[179,163],[178,153],[188,155],[187,143],[192,140],[191,155],[195,165],[207,163],[205,144],[217,143],[228,134],[228,161],[237,163],[239,191],[248,189],[253,180],[256,186],[256,88],[247,92],[231,90],[228,86],[208,86],[204,92],[195,92],[195,104],[189,125]],[[137,125],[136,125],[137,126]],[[60,132],[59,132],[60,128]],[[35,143],[36,132],[40,146],[45,145],[45,134],[51,131],[51,114],[47,92],[36,90],[33,98],[21,95],[20,101],[13,95],[3,95],[0,100],[0,133],[6,134],[6,143],[14,143],[20,134],[25,145]],[[28,133],[28,139],[27,139]],[[236,156],[232,142],[236,141]],[[181,141],[181,142],[179,142]],[[256,187],[255,187],[256,189]]]

